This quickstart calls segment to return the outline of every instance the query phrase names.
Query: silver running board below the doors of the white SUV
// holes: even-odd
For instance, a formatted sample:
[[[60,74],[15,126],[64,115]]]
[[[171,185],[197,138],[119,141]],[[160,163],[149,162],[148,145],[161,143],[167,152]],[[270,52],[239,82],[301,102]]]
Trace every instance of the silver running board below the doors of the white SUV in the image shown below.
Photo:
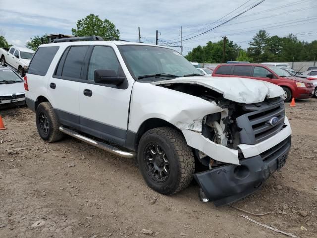
[[[121,156],[121,157],[124,157],[124,158],[134,158],[137,156],[137,154],[135,152],[128,152],[128,151],[123,151],[123,150],[119,150],[118,148],[115,148],[111,145],[108,145],[106,143],[103,143],[103,142],[100,142],[100,141],[97,141],[97,140],[93,140],[91,138],[88,138],[86,136],[83,136],[81,134],[79,134],[78,132],[76,131],[73,131],[73,130],[70,130],[68,128],[65,128],[63,126],[60,126],[59,127],[59,130],[67,135],[70,135],[72,137],[75,137],[81,141],[84,141],[90,145],[93,145],[93,146],[96,146],[100,149],[103,149],[103,150],[106,150],[107,152],[110,152],[112,154],[115,154],[115,155],[118,155],[118,156]]]

